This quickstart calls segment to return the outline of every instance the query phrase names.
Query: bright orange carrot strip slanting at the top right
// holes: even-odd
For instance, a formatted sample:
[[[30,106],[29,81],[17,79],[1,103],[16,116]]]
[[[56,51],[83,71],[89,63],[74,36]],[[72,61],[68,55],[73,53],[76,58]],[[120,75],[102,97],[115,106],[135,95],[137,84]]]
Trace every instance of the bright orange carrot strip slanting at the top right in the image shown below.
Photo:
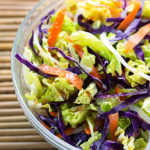
[[[138,1],[133,1],[133,4],[134,4],[133,11],[131,11],[128,14],[128,16],[118,26],[119,30],[125,30],[130,25],[130,23],[134,20],[134,18],[136,17],[136,15],[141,7],[141,3]]]

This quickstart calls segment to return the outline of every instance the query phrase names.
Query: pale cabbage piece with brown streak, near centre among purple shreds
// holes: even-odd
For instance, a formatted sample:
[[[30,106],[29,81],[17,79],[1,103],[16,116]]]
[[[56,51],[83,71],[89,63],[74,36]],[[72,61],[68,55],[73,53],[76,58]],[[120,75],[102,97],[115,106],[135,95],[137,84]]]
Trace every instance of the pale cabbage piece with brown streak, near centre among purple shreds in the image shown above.
[[[96,84],[92,82],[85,90],[82,89],[75,101],[76,104],[90,104],[93,96],[98,92]]]

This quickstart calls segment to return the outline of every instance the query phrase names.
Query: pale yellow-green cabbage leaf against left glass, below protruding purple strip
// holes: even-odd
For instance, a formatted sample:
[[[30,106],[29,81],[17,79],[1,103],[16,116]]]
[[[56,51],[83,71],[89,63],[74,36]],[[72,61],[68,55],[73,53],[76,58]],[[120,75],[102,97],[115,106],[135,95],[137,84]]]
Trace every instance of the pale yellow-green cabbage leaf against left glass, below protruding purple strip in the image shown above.
[[[43,94],[43,88],[40,79],[36,73],[28,72],[26,75],[26,82],[30,87],[30,94],[26,94],[28,100],[38,100],[38,98]]]

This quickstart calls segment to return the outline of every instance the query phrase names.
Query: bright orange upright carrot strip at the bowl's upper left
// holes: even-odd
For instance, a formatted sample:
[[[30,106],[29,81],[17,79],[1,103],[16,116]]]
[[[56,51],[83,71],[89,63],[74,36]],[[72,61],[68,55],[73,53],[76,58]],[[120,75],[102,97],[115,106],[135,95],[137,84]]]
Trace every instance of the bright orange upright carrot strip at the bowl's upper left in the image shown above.
[[[53,47],[55,45],[57,37],[58,37],[58,35],[62,29],[62,26],[63,26],[65,12],[66,12],[66,9],[63,9],[58,13],[52,28],[49,30],[50,31],[50,34],[48,37],[49,47]]]

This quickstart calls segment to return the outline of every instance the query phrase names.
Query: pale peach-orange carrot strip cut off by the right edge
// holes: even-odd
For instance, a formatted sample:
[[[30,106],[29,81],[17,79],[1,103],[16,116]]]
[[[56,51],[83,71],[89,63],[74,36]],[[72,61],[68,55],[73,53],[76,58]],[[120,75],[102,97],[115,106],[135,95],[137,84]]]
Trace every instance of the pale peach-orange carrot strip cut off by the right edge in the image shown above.
[[[150,32],[150,23],[143,26],[137,33],[135,33],[126,44],[126,52],[133,50],[133,48],[138,45],[143,38]]]

